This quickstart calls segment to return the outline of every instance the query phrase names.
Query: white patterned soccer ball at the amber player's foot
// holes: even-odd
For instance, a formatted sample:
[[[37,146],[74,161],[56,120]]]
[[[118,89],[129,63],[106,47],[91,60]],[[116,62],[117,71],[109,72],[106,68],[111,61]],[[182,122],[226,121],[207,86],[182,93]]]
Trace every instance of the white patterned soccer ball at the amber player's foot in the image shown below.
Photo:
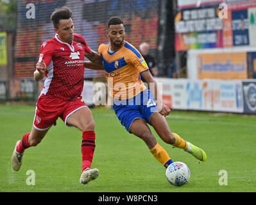
[[[189,167],[181,161],[175,161],[167,167],[166,178],[169,183],[175,186],[188,184],[190,178]]]

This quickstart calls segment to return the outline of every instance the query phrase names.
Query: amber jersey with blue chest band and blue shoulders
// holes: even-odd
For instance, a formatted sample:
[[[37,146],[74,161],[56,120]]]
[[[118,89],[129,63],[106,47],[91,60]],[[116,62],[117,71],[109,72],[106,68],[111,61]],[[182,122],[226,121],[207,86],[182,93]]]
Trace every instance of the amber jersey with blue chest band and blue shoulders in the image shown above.
[[[110,43],[99,45],[110,95],[115,99],[130,99],[146,89],[141,73],[148,70],[141,53],[124,41],[117,51],[110,51]]]

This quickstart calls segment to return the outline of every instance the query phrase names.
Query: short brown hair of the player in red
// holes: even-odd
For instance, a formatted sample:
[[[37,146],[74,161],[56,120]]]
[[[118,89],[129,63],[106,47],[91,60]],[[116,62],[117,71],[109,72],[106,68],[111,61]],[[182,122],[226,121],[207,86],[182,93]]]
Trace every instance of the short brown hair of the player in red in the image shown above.
[[[53,22],[54,28],[58,28],[58,24],[62,19],[70,19],[72,17],[72,11],[67,6],[62,8],[56,8],[51,14],[51,21]]]

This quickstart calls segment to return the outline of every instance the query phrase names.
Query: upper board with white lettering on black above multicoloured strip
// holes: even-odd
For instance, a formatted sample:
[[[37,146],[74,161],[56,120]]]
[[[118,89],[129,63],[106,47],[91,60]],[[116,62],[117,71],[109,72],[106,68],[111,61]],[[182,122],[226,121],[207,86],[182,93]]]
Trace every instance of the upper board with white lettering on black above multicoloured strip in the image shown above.
[[[175,49],[223,47],[223,20],[218,7],[181,10],[175,17]]]

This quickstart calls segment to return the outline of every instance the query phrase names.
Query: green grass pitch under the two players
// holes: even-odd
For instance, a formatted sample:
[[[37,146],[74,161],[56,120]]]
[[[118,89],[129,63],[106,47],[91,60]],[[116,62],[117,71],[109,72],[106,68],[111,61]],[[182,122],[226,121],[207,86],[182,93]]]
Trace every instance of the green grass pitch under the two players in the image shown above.
[[[37,147],[25,151],[21,170],[13,171],[14,145],[30,132],[35,106],[0,104],[0,192],[256,191],[255,115],[173,111],[166,117],[171,131],[205,150],[205,162],[167,145],[151,129],[173,161],[183,161],[191,170],[189,184],[178,187],[167,182],[166,168],[141,139],[121,126],[113,110],[92,109],[92,113],[96,122],[92,168],[99,169],[99,177],[83,185],[79,183],[81,132],[60,119]],[[35,185],[26,183],[29,170],[35,173]]]

